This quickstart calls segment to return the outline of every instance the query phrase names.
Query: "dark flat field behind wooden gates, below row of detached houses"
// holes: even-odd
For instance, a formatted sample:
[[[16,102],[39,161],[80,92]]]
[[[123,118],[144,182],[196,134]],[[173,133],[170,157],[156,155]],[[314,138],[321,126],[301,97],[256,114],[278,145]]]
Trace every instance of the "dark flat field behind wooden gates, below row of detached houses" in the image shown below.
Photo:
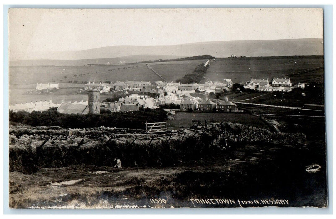
[[[246,113],[200,113],[200,112],[176,112],[173,120],[167,120],[169,130],[179,130],[180,127],[192,126],[192,119],[210,122],[233,122],[254,127],[267,128],[267,124],[260,118]]]

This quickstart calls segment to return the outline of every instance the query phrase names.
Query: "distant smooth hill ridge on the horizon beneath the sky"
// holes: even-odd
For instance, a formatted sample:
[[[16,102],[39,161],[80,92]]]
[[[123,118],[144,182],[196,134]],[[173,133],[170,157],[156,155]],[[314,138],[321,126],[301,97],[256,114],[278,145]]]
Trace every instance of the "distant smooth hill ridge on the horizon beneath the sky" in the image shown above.
[[[31,54],[30,63],[46,65],[52,61],[74,61],[71,65],[94,64],[91,60],[100,62],[115,62],[114,59],[124,58],[125,63],[146,60],[174,59],[208,54],[214,57],[240,56],[310,56],[323,55],[323,39],[283,39],[283,40],[241,40],[198,42],[169,46],[107,46],[80,51],[50,51]],[[149,58],[149,56],[151,56]],[[164,58],[164,56],[169,56]],[[127,59],[128,57],[128,59]],[[44,64],[41,60],[45,60]],[[107,60],[101,60],[107,59]],[[81,60],[81,61],[79,61]],[[86,61],[82,61],[86,60]],[[90,62],[88,62],[90,60]],[[129,61],[128,61],[129,60]],[[27,60],[28,61],[28,60]],[[22,64],[20,64],[20,62]],[[10,65],[23,65],[26,61],[11,61]],[[54,62],[56,63],[56,62]],[[106,64],[101,63],[101,64]],[[58,64],[47,64],[58,65]],[[69,65],[69,64],[67,64]]]

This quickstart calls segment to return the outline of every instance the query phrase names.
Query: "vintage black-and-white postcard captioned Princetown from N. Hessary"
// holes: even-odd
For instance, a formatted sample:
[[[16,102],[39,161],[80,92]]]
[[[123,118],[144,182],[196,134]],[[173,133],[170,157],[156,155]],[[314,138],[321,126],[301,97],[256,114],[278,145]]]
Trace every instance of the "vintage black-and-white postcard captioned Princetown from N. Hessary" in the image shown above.
[[[11,8],[10,208],[326,208],[321,8]]]

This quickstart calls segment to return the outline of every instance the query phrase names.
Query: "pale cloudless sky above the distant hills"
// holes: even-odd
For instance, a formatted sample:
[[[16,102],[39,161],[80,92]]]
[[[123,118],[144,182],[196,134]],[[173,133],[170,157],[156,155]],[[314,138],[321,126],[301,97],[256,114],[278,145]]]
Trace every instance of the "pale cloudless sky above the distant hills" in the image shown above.
[[[322,9],[9,10],[9,55],[115,45],[323,38]]]

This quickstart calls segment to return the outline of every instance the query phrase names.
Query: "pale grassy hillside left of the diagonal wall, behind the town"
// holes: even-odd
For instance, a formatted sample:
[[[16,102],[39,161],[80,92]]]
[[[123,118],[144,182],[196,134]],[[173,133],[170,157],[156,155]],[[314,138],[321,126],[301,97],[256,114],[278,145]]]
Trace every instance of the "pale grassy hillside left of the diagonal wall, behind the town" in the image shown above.
[[[76,74],[76,76],[75,76]],[[111,65],[111,66],[27,66],[10,67],[9,83],[11,85],[51,82],[52,80],[68,82],[82,81],[154,81],[156,76],[145,64]],[[66,77],[66,78],[65,78]],[[157,77],[157,78],[156,78]]]

